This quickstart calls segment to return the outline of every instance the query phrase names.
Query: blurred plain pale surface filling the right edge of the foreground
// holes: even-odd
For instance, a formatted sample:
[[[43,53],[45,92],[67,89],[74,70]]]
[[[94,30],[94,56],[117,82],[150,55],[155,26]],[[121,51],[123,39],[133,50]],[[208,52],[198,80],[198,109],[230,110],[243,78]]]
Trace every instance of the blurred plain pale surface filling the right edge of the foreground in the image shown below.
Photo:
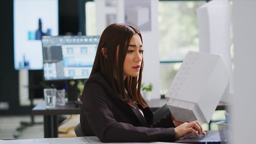
[[[233,0],[235,98],[232,144],[255,143],[256,0]]]

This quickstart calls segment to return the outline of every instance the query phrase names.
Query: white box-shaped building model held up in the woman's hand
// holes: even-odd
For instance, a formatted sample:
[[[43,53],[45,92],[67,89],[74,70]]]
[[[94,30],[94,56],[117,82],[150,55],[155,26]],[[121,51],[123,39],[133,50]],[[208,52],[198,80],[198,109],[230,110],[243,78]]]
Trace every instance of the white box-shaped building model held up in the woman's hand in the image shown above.
[[[189,51],[165,98],[177,121],[209,123],[229,82],[220,55]]]

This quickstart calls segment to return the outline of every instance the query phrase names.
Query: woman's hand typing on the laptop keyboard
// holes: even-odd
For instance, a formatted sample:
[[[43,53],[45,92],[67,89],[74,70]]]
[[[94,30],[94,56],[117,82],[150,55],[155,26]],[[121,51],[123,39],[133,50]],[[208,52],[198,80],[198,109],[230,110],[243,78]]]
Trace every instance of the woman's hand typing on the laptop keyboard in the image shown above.
[[[191,132],[194,133],[196,136],[198,136],[198,134],[205,135],[205,131],[202,129],[202,126],[198,121],[192,121],[190,123],[187,123],[187,122],[182,123],[181,125],[174,128],[174,130],[175,130],[176,139],[181,138],[187,133],[191,133]]]

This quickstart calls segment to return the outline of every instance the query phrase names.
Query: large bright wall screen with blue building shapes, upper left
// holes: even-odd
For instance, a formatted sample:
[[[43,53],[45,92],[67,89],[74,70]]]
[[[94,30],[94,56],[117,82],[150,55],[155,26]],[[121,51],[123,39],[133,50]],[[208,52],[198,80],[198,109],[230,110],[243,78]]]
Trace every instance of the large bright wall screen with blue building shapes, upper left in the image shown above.
[[[14,0],[14,68],[42,70],[43,35],[58,35],[58,0]]]

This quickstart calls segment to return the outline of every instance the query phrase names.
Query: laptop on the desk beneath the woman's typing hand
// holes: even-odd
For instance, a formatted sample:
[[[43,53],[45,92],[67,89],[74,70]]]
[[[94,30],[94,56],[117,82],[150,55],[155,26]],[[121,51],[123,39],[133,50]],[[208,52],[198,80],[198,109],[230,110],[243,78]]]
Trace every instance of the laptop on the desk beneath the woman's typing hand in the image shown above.
[[[208,130],[205,135],[189,133],[178,139],[177,143],[189,144],[226,144],[228,142],[228,130]]]

